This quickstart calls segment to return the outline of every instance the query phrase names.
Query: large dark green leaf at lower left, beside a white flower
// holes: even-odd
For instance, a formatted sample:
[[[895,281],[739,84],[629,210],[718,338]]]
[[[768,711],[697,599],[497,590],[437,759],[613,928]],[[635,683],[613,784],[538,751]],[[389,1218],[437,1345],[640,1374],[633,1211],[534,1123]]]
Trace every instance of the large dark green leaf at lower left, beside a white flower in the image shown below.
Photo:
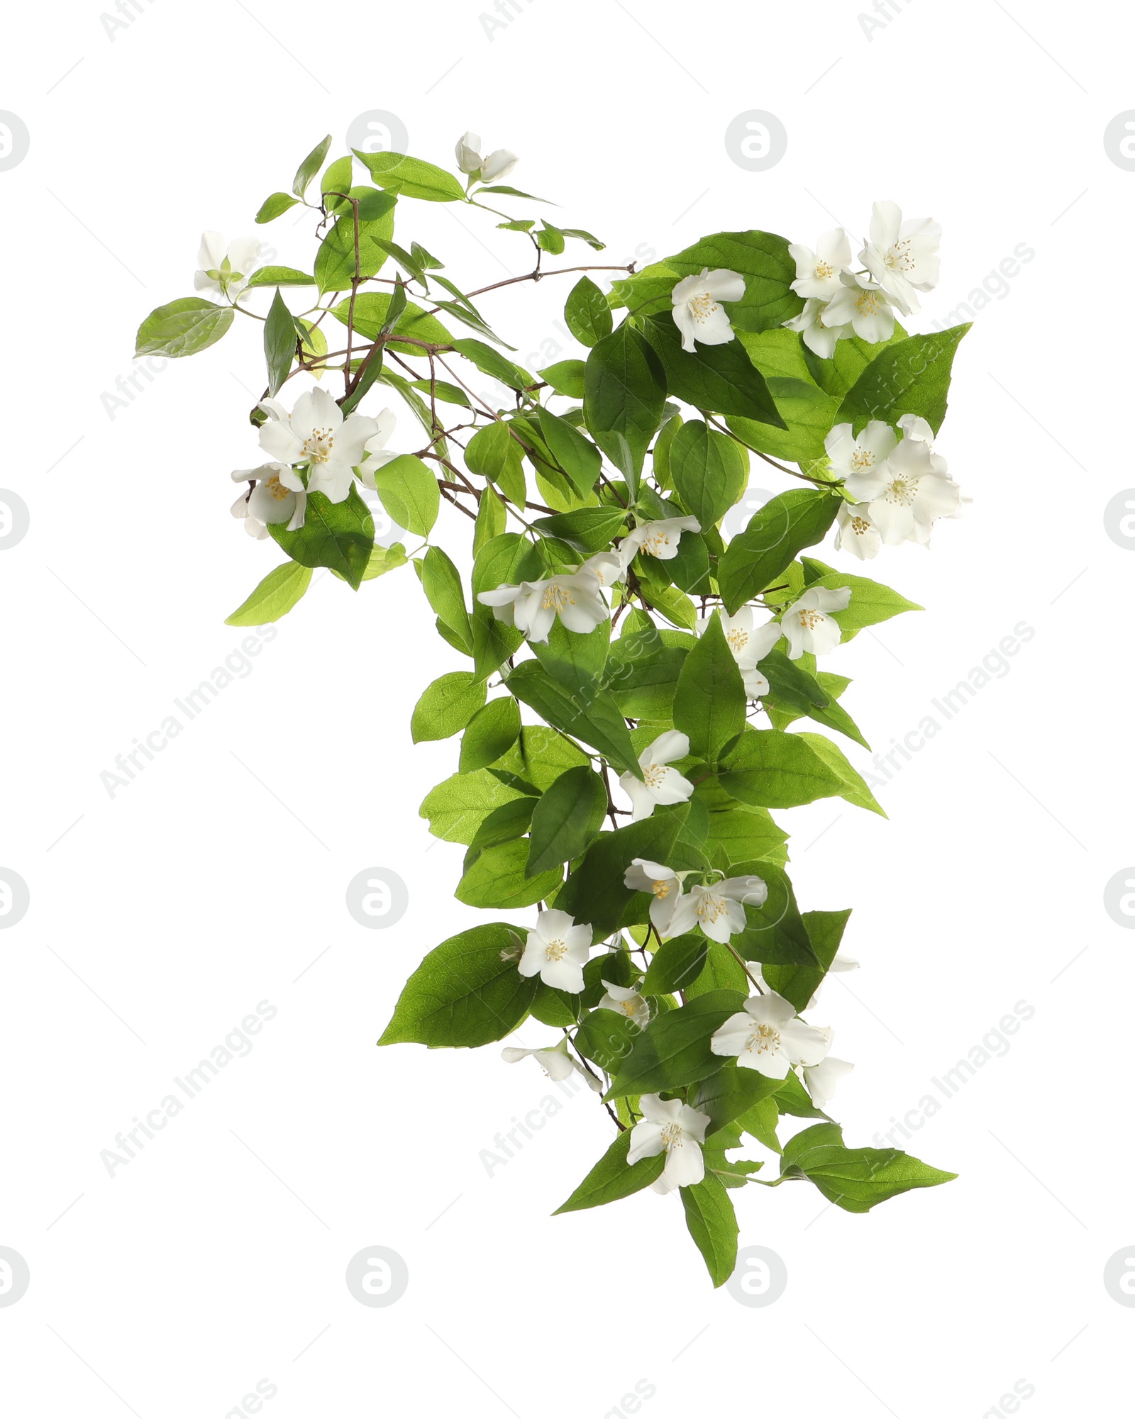
[[[379,1044],[474,1047],[511,1034],[536,993],[536,976],[525,979],[511,959],[516,945],[504,921],[443,941],[406,982]]]

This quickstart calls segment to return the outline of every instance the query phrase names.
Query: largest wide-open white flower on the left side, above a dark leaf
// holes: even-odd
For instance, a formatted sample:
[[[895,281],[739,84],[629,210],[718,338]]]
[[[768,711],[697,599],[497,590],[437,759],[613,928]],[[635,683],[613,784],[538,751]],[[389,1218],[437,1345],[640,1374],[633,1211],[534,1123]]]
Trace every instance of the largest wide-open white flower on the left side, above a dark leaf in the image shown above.
[[[366,457],[366,443],[379,431],[377,420],[343,412],[325,389],[312,389],[297,399],[291,413],[275,399],[260,404],[270,419],[260,427],[260,447],[278,463],[308,468],[306,491],[322,492],[342,502],[355,481],[355,468]],[[295,492],[305,488],[294,467],[279,481]]]

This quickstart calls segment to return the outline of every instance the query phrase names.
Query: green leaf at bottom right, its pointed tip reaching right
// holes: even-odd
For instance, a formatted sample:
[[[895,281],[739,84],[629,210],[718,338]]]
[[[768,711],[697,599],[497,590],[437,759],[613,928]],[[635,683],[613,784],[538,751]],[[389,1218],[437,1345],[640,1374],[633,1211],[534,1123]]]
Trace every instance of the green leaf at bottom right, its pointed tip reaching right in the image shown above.
[[[816,1124],[790,1138],[780,1171],[782,1176],[809,1178],[844,1212],[870,1212],[899,1192],[936,1188],[958,1176],[898,1148],[847,1148],[838,1124]]]

